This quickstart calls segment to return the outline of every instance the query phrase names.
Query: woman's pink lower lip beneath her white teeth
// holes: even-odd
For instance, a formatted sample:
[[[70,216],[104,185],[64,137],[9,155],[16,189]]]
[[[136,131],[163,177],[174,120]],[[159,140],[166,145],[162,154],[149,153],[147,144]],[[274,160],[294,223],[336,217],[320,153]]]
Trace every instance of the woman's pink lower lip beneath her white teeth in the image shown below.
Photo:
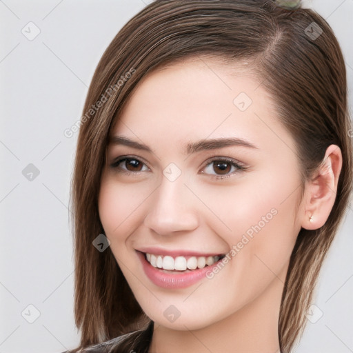
[[[205,268],[199,268],[197,270],[192,270],[190,272],[164,272],[159,268],[154,268],[146,259],[145,254],[137,251],[137,256],[141,260],[143,265],[143,270],[146,276],[155,284],[161,288],[178,289],[187,288],[201,279],[205,278],[206,274],[211,271],[221,259],[215,262],[213,265],[206,266]]]

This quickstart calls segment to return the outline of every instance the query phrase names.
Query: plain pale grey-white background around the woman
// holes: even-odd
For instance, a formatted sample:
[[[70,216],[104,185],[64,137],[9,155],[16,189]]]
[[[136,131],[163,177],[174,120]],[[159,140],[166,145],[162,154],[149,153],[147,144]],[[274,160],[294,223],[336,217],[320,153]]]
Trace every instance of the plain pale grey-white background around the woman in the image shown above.
[[[0,1],[0,353],[63,352],[79,343],[68,210],[77,133],[69,139],[63,130],[81,117],[103,50],[147,2]],[[339,38],[352,107],[353,0],[304,3]],[[21,32],[35,33],[30,21],[40,30],[32,41]],[[29,163],[39,170],[32,181],[22,174]],[[323,316],[307,325],[297,353],[353,352],[352,230],[350,210],[321,272],[314,303]],[[33,320],[36,310],[28,323],[23,316]]]

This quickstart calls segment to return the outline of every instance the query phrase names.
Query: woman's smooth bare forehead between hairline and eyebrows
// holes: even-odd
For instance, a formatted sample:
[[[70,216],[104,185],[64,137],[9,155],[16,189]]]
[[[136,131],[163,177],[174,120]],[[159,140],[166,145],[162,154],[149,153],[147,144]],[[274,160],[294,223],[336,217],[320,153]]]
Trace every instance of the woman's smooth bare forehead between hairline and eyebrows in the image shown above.
[[[155,143],[212,137],[274,139],[285,131],[270,94],[246,61],[193,58],[154,70],[140,81],[111,134]]]

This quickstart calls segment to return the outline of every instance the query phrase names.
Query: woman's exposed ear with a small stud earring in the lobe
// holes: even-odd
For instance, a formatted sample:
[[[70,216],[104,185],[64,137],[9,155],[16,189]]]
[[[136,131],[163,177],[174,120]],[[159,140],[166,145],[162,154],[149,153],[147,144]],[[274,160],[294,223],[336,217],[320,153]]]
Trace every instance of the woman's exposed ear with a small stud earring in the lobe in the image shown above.
[[[307,230],[321,228],[334,205],[342,168],[342,153],[337,145],[330,145],[312,179],[305,183],[305,212],[301,227]]]

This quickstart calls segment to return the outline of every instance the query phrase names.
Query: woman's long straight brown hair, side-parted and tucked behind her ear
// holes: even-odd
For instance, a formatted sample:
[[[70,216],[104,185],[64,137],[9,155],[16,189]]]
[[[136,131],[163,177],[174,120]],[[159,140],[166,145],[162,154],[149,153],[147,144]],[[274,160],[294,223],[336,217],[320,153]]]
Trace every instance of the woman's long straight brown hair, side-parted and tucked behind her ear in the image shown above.
[[[330,144],[341,148],[343,168],[332,212],[319,230],[299,232],[283,290],[282,352],[290,352],[301,335],[319,270],[349,202],[352,141],[345,63],[332,29],[313,10],[288,10],[278,3],[156,0],[128,21],[105,50],[83,108],[72,179],[74,315],[81,330],[77,350],[140,330],[127,338],[135,345],[124,349],[121,344],[116,352],[148,352],[143,333],[150,320],[110,248],[99,252],[92,245],[104,234],[98,210],[101,171],[112,125],[139,81],[161,65],[195,55],[212,55],[230,65],[252,62],[279,120],[296,141],[303,178],[320,165]],[[147,342],[144,350],[137,348],[141,342]]]

